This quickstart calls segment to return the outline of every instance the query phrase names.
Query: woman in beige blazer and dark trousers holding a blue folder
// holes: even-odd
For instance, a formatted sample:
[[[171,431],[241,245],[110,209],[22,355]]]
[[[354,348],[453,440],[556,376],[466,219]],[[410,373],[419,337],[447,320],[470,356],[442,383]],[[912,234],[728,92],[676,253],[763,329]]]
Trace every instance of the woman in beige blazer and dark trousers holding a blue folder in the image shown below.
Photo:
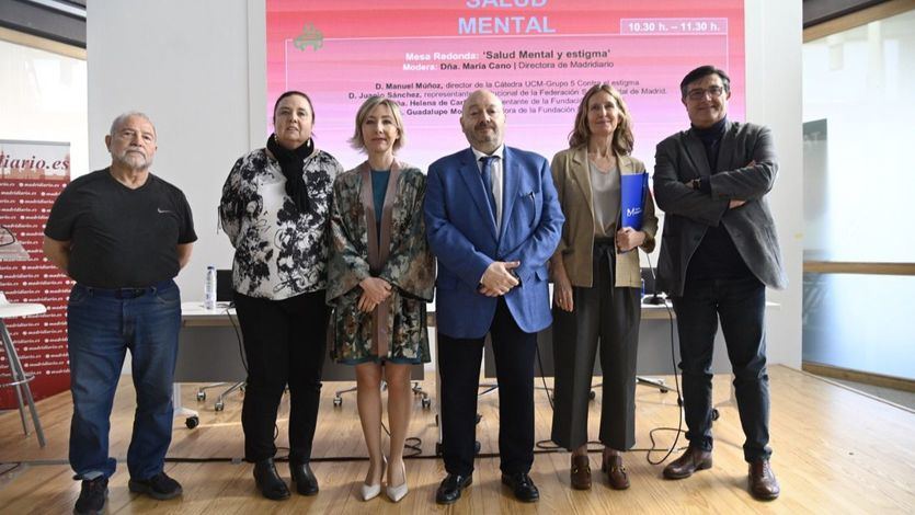
[[[582,99],[569,149],[553,157],[552,176],[565,226],[551,259],[556,409],[552,439],[572,451],[571,483],[591,488],[587,404],[599,343],[604,387],[599,440],[609,485],[629,488],[621,453],[634,445],[636,356],[641,321],[639,253],[654,249],[657,218],[645,195],[642,227],[619,227],[621,175],[644,172],[626,103],[609,84]]]

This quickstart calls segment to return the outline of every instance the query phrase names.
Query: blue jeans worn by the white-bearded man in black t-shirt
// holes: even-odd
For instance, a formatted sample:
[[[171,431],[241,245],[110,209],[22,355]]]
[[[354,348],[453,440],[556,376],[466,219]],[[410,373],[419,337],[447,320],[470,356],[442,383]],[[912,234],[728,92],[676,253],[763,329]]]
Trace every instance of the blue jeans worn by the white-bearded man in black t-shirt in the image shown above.
[[[162,471],[172,439],[172,381],[181,328],[181,295],[174,282],[149,288],[102,290],[73,286],[67,308],[70,390],[70,466],[77,479],[111,477],[111,410],[130,350],[137,409],[127,450],[135,479]]]

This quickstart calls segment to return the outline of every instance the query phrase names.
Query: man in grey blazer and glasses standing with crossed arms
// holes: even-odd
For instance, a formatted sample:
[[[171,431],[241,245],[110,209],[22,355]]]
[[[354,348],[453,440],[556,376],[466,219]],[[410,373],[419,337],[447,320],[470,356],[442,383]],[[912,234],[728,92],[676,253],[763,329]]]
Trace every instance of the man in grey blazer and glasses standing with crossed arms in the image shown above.
[[[778,496],[769,466],[766,286],[787,278],[766,195],[778,163],[767,127],[728,119],[730,78],[711,66],[680,82],[691,127],[657,145],[654,198],[664,210],[659,287],[677,316],[689,448],[664,469],[683,479],[711,467],[711,362],[718,321],[734,370],[750,491]]]

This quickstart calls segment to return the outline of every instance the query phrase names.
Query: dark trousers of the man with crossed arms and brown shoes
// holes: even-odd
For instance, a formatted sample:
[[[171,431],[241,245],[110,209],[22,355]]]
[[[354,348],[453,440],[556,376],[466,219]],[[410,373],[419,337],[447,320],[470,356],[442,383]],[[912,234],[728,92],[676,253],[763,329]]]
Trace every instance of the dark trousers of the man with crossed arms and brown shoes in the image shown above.
[[[734,390],[746,442],[744,459],[768,459],[769,376],[766,371],[766,287],[755,277],[689,281],[673,297],[677,314],[686,438],[711,450],[711,362],[721,332],[734,371]]]

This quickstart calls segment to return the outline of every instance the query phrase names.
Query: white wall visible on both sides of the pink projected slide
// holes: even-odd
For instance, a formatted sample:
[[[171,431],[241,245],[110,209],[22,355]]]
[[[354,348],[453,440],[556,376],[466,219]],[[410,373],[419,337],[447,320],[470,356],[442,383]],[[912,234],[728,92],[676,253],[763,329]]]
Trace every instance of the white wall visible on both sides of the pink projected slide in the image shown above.
[[[263,145],[263,0],[88,4],[90,165],[108,164],[103,138],[114,116],[150,115],[159,133],[153,171],[184,191],[195,214],[199,240],[179,276],[185,299],[202,298],[207,264],[231,265],[216,206],[235,160]],[[800,366],[800,2],[746,0],[746,58],[747,119],[773,128],[781,161],[770,202],[791,281],[770,295],[781,308],[769,312],[768,353],[771,363]]]

